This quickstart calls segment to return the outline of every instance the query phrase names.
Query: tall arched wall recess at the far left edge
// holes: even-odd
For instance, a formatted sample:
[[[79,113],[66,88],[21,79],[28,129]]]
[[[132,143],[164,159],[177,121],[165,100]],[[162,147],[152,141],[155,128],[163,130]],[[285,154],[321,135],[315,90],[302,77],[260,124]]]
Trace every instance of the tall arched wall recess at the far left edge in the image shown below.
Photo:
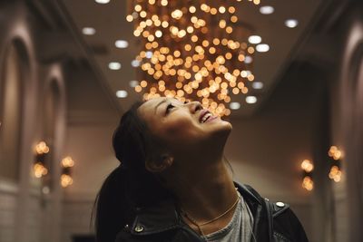
[[[7,50],[0,85],[0,177],[13,182],[19,179],[25,68],[16,47]]]

